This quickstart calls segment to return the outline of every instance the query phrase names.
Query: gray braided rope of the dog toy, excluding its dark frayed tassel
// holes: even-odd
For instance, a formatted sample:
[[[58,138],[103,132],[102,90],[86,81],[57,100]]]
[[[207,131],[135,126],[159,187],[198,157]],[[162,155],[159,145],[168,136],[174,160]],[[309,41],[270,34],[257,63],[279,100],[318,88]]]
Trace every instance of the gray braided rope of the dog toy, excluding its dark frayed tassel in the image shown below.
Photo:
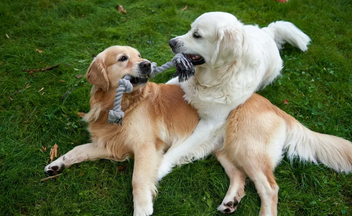
[[[172,58],[172,61],[166,62],[162,66],[157,67],[155,62],[152,62],[152,72],[149,78],[153,79],[156,73],[164,72],[172,67],[175,67],[177,60],[183,58],[184,56],[181,53],[175,55]],[[121,120],[124,117],[124,112],[121,110],[121,101],[124,92],[130,93],[133,90],[132,83],[130,82],[131,75],[126,75],[123,79],[120,79],[118,84],[119,87],[116,89],[115,99],[114,99],[114,108],[109,110],[108,123],[121,125]]]

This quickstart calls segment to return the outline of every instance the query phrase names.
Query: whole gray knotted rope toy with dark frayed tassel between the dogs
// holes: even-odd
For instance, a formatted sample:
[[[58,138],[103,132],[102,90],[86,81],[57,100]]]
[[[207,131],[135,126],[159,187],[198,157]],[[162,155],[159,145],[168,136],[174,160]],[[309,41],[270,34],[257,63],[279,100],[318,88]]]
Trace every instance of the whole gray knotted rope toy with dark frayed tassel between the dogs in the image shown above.
[[[189,59],[178,53],[170,62],[166,62],[162,66],[157,67],[155,62],[152,62],[152,72],[149,78],[153,79],[155,74],[162,73],[172,67],[176,67],[176,72],[173,77],[178,77],[180,83],[188,80],[194,76],[194,66]],[[130,93],[133,90],[132,83],[130,82],[131,75],[126,75],[123,79],[120,79],[118,84],[119,87],[116,89],[114,108],[109,110],[108,123],[122,125],[122,118],[124,112],[121,110],[121,101],[124,92]]]

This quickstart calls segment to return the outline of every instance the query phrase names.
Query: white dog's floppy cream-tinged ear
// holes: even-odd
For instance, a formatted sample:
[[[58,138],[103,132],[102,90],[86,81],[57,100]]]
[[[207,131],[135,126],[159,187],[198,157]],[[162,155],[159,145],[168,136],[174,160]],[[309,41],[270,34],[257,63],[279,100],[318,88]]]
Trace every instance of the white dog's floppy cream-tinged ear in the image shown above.
[[[235,60],[235,55],[241,51],[242,41],[239,30],[234,27],[221,28],[218,31],[210,65],[215,67],[226,63],[224,61]],[[219,60],[219,55],[221,55],[221,61]]]

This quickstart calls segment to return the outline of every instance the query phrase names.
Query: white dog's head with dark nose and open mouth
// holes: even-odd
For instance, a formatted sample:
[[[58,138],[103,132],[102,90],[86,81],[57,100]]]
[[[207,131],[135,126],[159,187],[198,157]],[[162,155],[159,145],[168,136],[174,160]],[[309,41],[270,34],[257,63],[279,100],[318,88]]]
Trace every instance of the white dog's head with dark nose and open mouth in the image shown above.
[[[243,52],[242,28],[232,14],[205,13],[191,24],[187,34],[171,39],[169,45],[172,52],[187,55],[193,65],[227,65]]]

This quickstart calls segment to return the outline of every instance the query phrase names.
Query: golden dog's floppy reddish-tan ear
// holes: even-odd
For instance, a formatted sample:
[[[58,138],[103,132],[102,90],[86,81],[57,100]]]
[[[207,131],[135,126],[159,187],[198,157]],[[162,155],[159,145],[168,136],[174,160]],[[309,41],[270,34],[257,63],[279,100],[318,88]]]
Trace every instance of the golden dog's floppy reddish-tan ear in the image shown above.
[[[103,57],[98,55],[88,68],[86,74],[89,83],[101,88],[104,91],[109,89],[109,79],[106,74],[106,66]]]

